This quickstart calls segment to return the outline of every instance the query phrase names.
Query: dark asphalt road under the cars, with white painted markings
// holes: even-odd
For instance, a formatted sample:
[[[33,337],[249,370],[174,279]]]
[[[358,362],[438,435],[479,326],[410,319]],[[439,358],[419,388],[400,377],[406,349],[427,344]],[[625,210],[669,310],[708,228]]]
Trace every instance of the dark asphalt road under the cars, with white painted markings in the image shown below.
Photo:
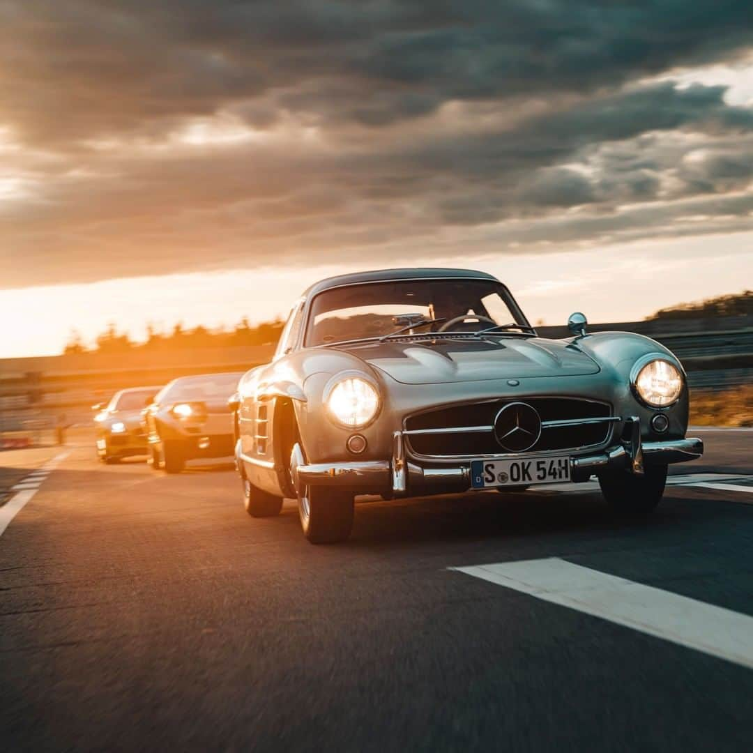
[[[331,547],[230,465],[4,453],[0,747],[753,750],[753,431],[699,433],[646,520],[372,501]]]

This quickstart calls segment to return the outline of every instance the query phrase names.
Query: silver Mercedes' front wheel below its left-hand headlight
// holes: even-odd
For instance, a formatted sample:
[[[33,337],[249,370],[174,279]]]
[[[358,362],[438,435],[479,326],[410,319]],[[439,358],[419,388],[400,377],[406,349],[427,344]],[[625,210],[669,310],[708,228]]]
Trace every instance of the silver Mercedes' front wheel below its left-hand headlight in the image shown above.
[[[303,464],[300,444],[294,444],[290,461],[290,478],[298,498],[303,535],[312,544],[346,541],[353,529],[353,492],[300,483],[297,478],[297,468]]]

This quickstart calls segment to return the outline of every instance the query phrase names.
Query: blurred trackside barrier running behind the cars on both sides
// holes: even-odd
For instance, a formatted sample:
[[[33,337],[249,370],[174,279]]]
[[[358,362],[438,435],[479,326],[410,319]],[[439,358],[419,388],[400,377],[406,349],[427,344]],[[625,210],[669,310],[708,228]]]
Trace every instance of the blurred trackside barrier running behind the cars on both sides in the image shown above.
[[[753,327],[748,317],[708,327],[681,322],[621,322],[589,325],[589,331],[638,331],[653,337],[683,361],[691,389],[721,390],[753,383]],[[659,325],[669,331],[657,331]],[[541,337],[568,337],[563,327],[538,328]],[[0,435],[53,431],[56,425],[88,423],[92,404],[127,387],[165,384],[195,373],[245,371],[267,362],[272,346],[136,352],[122,357],[87,354],[0,361]],[[36,422],[36,423],[35,423]],[[44,422],[44,425],[43,423]]]

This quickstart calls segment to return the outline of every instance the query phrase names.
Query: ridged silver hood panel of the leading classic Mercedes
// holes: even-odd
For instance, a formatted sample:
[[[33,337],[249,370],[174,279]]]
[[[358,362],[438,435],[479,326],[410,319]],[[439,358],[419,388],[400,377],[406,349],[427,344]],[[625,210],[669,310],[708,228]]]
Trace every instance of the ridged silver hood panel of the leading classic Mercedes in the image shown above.
[[[387,340],[343,347],[404,384],[575,377],[599,371],[577,346],[538,337]]]

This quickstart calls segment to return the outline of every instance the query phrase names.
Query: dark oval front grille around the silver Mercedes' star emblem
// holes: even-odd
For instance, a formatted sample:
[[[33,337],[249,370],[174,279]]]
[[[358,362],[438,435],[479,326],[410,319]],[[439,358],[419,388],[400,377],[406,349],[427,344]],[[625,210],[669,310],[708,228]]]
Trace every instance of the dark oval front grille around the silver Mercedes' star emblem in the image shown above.
[[[498,443],[492,428],[501,408],[509,403],[526,403],[541,418],[541,436],[527,450],[531,453],[605,444],[614,423],[609,404],[584,398],[508,398],[456,404],[409,416],[404,425],[408,449],[414,455],[435,458],[511,454]]]

